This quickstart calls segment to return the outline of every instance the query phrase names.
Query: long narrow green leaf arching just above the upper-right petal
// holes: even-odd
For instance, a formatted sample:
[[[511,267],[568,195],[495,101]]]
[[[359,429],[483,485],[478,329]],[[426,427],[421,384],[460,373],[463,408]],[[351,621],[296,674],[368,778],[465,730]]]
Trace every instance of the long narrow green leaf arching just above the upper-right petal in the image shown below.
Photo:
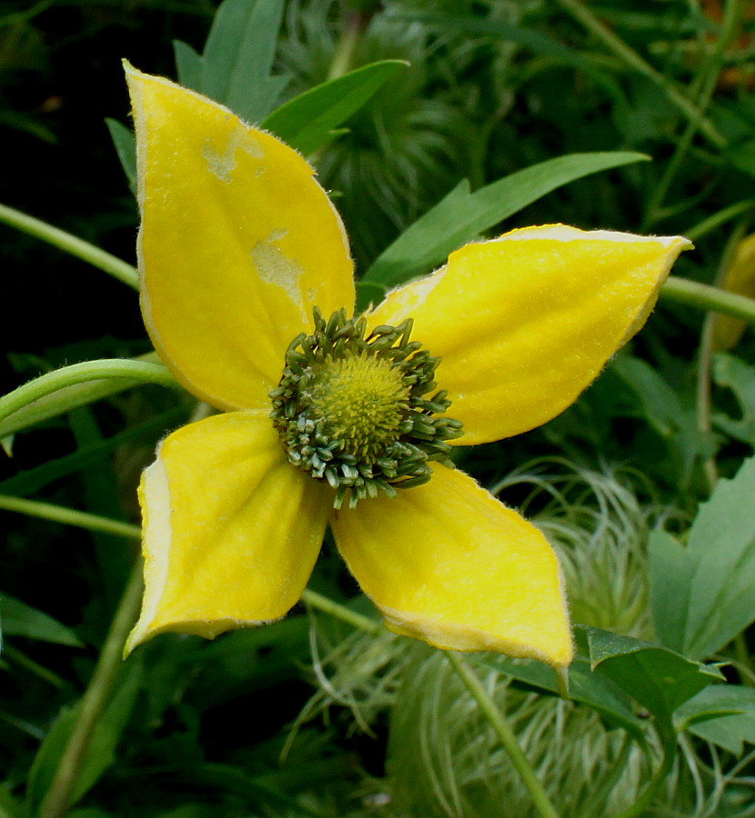
[[[582,176],[646,161],[644,154],[570,154],[532,165],[470,193],[464,179],[381,253],[365,279],[395,286],[446,260],[461,244]]]

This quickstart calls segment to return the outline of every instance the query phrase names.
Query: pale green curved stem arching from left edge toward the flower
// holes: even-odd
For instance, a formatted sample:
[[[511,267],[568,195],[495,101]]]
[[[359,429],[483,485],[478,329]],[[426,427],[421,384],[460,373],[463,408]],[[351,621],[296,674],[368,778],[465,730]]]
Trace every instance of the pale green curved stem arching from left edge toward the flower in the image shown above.
[[[84,361],[48,372],[23,384],[0,397],[0,420],[24,409],[25,406],[53,394],[66,386],[99,381],[107,378],[123,378],[143,384],[158,384],[176,388],[178,384],[163,364],[136,361],[131,358],[103,358],[98,361]]]

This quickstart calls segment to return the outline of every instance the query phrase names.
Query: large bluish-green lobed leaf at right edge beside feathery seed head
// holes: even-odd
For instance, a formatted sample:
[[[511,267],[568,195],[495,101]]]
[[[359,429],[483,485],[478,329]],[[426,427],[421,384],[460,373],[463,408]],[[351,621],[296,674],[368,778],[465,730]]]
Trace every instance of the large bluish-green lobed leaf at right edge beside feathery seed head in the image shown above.
[[[753,496],[755,458],[750,458],[700,505],[686,548],[669,535],[650,543],[656,631],[669,647],[693,659],[717,653],[755,621]]]

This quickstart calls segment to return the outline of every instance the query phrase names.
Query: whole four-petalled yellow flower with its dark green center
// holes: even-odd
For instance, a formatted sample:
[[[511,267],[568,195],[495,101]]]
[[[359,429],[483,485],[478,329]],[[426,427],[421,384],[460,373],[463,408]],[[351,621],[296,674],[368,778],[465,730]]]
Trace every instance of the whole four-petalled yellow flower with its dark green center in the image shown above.
[[[146,326],[186,389],[225,411],[169,435],[146,469],[128,649],[285,615],[329,525],[391,630],[565,668],[549,544],[446,456],[571,404],[690,243],[517,230],[353,319],[347,237],[307,162],[201,95],[128,81]]]

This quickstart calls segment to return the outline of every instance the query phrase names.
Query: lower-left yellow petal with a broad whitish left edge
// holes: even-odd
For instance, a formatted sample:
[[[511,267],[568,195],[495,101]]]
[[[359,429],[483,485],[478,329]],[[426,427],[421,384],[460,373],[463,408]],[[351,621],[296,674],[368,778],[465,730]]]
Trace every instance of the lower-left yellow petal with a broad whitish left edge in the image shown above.
[[[218,414],[171,434],[140,487],[146,591],[126,649],[287,613],[317,559],[328,491],[287,463],[265,414]]]

